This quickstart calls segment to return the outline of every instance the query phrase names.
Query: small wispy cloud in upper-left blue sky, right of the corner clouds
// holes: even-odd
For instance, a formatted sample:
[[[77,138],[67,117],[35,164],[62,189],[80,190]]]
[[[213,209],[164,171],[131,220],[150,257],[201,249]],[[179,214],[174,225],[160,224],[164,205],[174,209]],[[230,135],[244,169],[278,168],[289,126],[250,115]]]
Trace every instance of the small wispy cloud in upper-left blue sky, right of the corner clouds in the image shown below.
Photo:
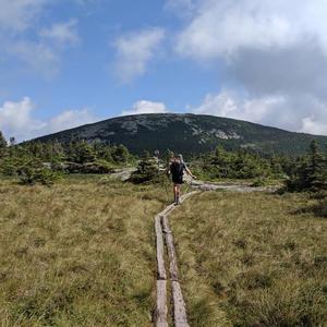
[[[80,41],[76,24],[76,20],[56,23],[50,28],[43,28],[39,35],[60,45],[75,45]]]

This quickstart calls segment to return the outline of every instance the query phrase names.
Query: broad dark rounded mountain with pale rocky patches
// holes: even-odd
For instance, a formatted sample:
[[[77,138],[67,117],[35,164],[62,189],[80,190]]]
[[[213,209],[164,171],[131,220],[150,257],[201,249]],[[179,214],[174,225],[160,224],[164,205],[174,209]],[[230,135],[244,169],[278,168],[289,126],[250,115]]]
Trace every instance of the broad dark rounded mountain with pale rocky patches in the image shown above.
[[[214,149],[218,144],[228,149],[251,148],[263,153],[303,154],[312,140],[320,146],[327,136],[288,132],[246,121],[203,114],[148,113],[118,117],[83,125],[36,141],[72,137],[87,141],[100,140],[108,144],[123,144],[131,153],[142,154],[166,149],[183,154],[198,154]]]

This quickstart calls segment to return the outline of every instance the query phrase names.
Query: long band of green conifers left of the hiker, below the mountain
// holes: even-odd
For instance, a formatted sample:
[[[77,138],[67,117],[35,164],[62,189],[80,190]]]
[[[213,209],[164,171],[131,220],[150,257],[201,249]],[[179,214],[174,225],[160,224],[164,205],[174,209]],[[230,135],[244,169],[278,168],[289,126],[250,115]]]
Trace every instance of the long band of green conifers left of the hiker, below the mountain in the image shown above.
[[[0,173],[24,184],[53,183],[62,173],[110,173],[135,160],[123,145],[71,140],[8,144],[0,131]]]

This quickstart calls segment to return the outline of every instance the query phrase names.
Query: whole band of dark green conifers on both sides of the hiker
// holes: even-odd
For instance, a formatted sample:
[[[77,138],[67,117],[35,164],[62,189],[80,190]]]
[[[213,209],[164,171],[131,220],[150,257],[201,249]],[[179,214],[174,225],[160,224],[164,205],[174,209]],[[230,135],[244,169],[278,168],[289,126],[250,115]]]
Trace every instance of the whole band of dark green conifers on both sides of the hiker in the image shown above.
[[[171,154],[161,159],[164,166]],[[132,180],[137,183],[158,180],[159,164],[149,153],[135,158],[123,145],[109,146],[100,141],[71,140],[68,143],[7,143],[0,132],[0,173],[17,175],[24,183],[56,180],[58,173],[110,173],[116,168],[134,164],[137,171]],[[240,148],[229,152],[222,146],[190,161],[203,179],[246,179],[262,185],[266,180],[283,180],[288,191],[326,190],[327,148],[319,149],[315,141],[304,156],[265,155]]]

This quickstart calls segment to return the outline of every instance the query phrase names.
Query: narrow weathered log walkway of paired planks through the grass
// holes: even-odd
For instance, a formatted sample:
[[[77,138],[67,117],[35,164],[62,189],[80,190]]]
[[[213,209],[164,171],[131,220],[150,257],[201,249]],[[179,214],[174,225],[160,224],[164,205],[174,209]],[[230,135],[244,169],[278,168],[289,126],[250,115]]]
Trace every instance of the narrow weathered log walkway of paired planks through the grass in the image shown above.
[[[181,197],[181,203],[186,198],[198,193],[193,191]],[[189,327],[185,302],[183,299],[181,286],[179,282],[177,255],[173,245],[173,237],[169,227],[168,215],[178,208],[173,204],[169,205],[164,211],[155,218],[156,242],[157,242],[157,307],[155,313],[156,327],[168,327],[168,306],[167,306],[167,287],[171,281],[173,323],[175,327]],[[164,241],[165,237],[165,241]],[[169,259],[169,277],[165,265],[165,244]]]

